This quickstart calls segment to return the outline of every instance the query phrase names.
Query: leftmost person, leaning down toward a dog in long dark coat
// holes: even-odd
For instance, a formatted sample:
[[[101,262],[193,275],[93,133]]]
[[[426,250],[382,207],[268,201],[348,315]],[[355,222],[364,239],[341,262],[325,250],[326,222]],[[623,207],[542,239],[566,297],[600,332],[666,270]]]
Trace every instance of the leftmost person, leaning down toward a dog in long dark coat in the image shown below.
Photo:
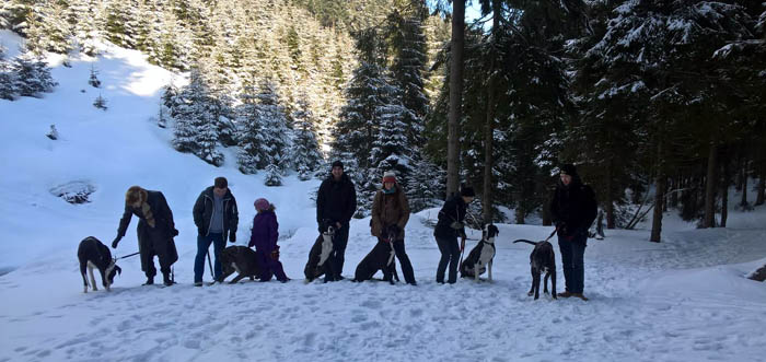
[[[172,285],[171,266],[178,260],[178,252],[175,249],[173,237],[178,235],[173,222],[173,212],[167,206],[165,196],[160,191],[146,190],[139,186],[131,186],[125,194],[125,212],[119,220],[117,237],[112,242],[112,247],[125,236],[132,215],[138,217],[138,250],[141,256],[141,270],[147,275],[147,283],[154,283],[156,269],[154,256],[160,259],[163,283]]]

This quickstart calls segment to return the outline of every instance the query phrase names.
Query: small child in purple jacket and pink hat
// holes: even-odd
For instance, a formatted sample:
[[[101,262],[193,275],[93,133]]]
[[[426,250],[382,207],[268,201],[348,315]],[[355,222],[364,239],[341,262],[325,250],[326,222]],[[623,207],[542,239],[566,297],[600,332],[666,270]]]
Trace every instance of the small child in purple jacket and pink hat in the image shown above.
[[[260,267],[260,281],[269,281],[271,276],[276,275],[277,280],[285,283],[290,278],[285,275],[282,264],[279,262],[279,246],[277,245],[279,224],[277,223],[277,214],[274,212],[275,207],[268,200],[259,198],[255,200],[255,210],[258,213],[253,218],[253,233],[247,246],[255,246],[255,254],[258,256]]]

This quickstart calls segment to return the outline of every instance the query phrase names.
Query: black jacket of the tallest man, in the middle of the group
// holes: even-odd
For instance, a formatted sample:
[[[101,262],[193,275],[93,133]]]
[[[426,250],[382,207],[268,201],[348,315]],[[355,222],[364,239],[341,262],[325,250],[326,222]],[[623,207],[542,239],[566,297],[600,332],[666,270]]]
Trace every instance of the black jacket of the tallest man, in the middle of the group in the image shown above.
[[[316,223],[322,226],[324,220],[347,225],[357,212],[357,190],[346,174],[340,180],[329,175],[320,186],[316,195]]]

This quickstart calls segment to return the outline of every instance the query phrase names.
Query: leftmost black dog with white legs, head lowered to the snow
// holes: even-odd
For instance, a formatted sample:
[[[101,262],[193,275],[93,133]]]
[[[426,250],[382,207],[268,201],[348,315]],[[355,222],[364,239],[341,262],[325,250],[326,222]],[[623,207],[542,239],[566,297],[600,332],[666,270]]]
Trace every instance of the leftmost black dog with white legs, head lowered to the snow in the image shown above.
[[[84,285],[83,293],[88,293],[85,269],[88,269],[88,273],[91,277],[93,291],[98,290],[93,277],[93,269],[98,269],[98,272],[101,272],[101,281],[107,292],[111,291],[115,275],[123,273],[123,269],[115,264],[117,260],[112,258],[109,248],[93,236],[88,236],[80,242],[80,246],[77,249],[77,258],[80,260],[80,275],[82,275],[82,283]]]

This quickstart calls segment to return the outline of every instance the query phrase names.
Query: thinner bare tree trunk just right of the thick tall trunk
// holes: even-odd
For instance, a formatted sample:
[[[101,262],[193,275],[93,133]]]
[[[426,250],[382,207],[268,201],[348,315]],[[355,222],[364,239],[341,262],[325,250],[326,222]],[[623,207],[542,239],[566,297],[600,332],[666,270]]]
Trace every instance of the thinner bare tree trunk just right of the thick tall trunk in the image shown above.
[[[492,0],[492,39],[489,46],[494,49],[500,31],[500,12],[502,8],[499,0]],[[484,197],[481,198],[484,222],[492,221],[492,143],[495,141],[495,51],[489,60],[487,74],[487,118],[484,126]]]

